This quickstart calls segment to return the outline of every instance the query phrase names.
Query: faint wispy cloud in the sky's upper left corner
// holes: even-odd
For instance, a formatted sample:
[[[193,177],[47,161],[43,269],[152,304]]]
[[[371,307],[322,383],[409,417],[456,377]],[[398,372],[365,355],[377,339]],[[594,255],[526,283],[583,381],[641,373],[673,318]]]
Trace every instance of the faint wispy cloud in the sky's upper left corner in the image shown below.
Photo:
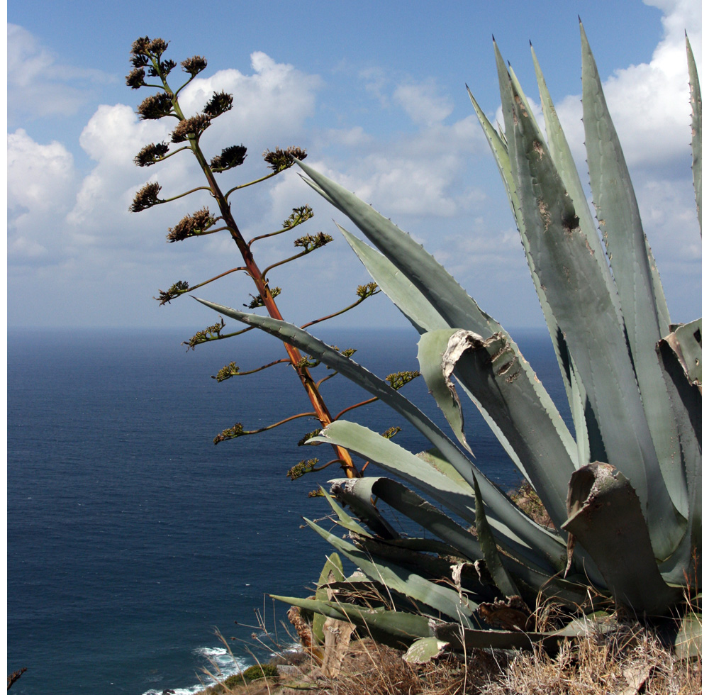
[[[7,87],[9,119],[71,116],[86,104],[86,82],[113,80],[101,70],[62,65],[28,30],[7,25]],[[74,82],[82,86],[77,87]]]

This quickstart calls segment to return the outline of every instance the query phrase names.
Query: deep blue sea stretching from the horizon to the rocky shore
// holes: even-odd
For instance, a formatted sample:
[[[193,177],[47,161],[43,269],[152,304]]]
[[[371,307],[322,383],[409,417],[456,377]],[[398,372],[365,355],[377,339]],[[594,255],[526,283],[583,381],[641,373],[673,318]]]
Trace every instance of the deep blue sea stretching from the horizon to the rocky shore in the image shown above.
[[[286,477],[323,457],[296,447],[316,429],[310,418],[213,445],[236,422],[263,427],[309,403],[287,365],[211,379],[228,362],[245,371],[279,359],[272,338],[252,331],[188,353],[191,333],[9,331],[7,667],[27,667],[16,695],[186,695],[210,682],[212,662],[229,674],[291,643],[287,606],[266,594],[306,596],[318,579],[331,549],[302,517],[325,516],[308,491],[339,474]],[[357,347],[354,360],[381,377],[418,367],[413,330],[316,333]],[[558,401],[548,334],[513,335]],[[333,413],[368,397],[343,377],[323,393]],[[442,422],[423,379],[403,393]],[[348,416],[402,426],[398,444],[427,447],[381,404]],[[478,465],[517,484],[479,416],[466,416]]]

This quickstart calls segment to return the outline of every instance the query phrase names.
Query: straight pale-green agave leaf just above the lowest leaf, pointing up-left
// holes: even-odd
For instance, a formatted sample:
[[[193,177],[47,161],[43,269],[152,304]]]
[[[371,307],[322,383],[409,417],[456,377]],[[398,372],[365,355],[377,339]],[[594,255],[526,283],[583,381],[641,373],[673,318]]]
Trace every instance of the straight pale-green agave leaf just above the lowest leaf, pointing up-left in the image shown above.
[[[336,550],[339,550],[342,555],[348,557],[359,569],[362,569],[362,572],[367,574],[370,579],[390,586],[391,589],[409,596],[418,604],[430,606],[433,611],[459,619],[467,627],[474,625],[475,621],[471,619],[472,610],[470,606],[462,602],[456,591],[447,589],[445,586],[438,586],[433,582],[429,582],[428,579],[423,579],[418,574],[401,569],[398,565],[394,565],[384,559],[380,558],[375,563],[366,552],[362,552],[354,545],[346,543],[332,533],[328,533],[328,531],[308,519],[305,519],[305,522],[322,538],[327,540],[330,545],[333,545]]]

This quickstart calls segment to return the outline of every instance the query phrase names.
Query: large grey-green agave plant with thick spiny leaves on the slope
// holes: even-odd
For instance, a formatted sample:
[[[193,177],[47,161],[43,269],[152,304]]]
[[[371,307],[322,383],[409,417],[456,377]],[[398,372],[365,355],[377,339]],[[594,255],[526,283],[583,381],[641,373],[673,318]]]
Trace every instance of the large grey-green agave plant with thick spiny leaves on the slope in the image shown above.
[[[523,241],[573,433],[506,330],[411,237],[303,162],[311,187],[376,247],[340,228],[420,333],[420,371],[457,443],[386,382],[305,331],[205,302],[337,369],[432,445],[414,455],[342,420],[311,440],[345,447],[393,476],[332,482],[328,501],[348,540],[307,522],[363,573],[332,587],[350,598],[362,591],[386,598],[374,606],[321,595],[284,601],[366,625],[396,643],[423,639],[415,650],[432,654],[445,643],[553,645],[579,631],[578,617],[539,630],[528,608],[540,596],[586,613],[615,604],[650,617],[681,610],[688,595],[700,594],[701,320],[670,323],[583,27],[581,47],[598,226],[533,50],[547,138],[496,46],[504,133],[470,95]],[[701,218],[701,102],[688,44],[687,52]],[[553,528],[526,516],[467,455],[461,390],[533,486]],[[384,505],[427,533],[398,533]],[[684,629],[691,632],[690,623]]]

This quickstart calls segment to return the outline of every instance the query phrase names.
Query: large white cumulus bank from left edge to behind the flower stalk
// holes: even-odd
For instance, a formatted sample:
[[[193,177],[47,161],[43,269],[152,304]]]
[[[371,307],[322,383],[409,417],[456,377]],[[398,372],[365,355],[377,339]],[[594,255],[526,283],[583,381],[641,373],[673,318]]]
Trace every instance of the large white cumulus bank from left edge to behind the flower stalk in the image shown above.
[[[40,57],[35,67],[26,67],[28,74],[51,72],[48,66],[56,62],[46,53],[40,52]],[[202,144],[210,158],[235,144],[231,138],[237,133],[238,142],[250,146],[250,157],[238,174],[242,181],[267,172],[262,150],[300,144],[294,139],[303,134],[320,87],[318,76],[299,72],[264,53],[252,55],[252,67],[252,74],[225,70],[196,79],[181,95],[182,106],[190,113],[201,111],[213,91],[235,94],[235,108],[214,122]],[[148,94],[142,90],[135,95],[136,102]],[[103,320],[111,323],[125,321],[130,313],[130,302],[116,304],[111,301],[112,292],[142,296],[144,306],[151,294],[157,294],[158,286],[167,288],[177,279],[200,282],[223,270],[221,263],[214,267],[214,260],[233,256],[228,238],[213,235],[199,240],[201,253],[197,255],[194,240],[184,244],[165,240],[169,226],[209,203],[207,191],[141,213],[128,211],[135,191],[148,181],[160,182],[164,198],[204,185],[189,152],[155,167],[140,168],[133,162],[147,143],[169,141],[174,124],[171,118],[140,121],[135,106],[99,106],[79,138],[79,145],[94,162],[83,177],[77,174],[65,145],[40,144],[24,130],[10,135],[9,265],[13,282],[18,286],[29,282],[23,268],[31,264],[35,277],[44,277],[45,284],[61,284],[69,293],[83,291],[81,301],[86,306],[105,302],[102,316],[108,318]],[[220,175],[220,182],[222,178],[232,185],[233,174]],[[259,187],[249,190],[247,210],[238,211],[246,229],[270,212],[267,192]]]

